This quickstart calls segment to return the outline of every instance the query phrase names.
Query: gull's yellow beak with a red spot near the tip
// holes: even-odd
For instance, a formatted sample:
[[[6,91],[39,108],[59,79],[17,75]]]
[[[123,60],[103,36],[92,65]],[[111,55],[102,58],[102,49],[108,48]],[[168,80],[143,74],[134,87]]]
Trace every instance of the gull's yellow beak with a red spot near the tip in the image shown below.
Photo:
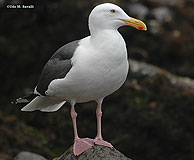
[[[124,21],[126,25],[132,26],[138,30],[144,30],[144,31],[147,30],[145,23],[143,23],[138,19],[130,17],[130,19],[121,19],[121,20]]]

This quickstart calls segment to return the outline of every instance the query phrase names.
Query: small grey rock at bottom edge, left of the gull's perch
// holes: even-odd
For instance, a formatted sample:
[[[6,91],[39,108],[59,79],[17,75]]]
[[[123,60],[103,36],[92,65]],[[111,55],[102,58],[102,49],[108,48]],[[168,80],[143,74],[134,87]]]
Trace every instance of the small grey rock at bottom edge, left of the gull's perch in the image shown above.
[[[14,160],[47,160],[43,156],[31,152],[20,152]]]

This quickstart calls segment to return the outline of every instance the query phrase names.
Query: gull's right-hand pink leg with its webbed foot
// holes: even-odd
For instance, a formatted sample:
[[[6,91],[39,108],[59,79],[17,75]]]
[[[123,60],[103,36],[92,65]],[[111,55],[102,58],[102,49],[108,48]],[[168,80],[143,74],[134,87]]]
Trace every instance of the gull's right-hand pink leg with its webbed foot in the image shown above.
[[[101,118],[102,118],[102,100],[97,102],[97,108],[96,108],[96,117],[97,117],[97,136],[94,140],[94,143],[97,145],[102,145],[106,147],[113,148],[111,143],[104,141],[102,138],[102,131],[101,131]]]

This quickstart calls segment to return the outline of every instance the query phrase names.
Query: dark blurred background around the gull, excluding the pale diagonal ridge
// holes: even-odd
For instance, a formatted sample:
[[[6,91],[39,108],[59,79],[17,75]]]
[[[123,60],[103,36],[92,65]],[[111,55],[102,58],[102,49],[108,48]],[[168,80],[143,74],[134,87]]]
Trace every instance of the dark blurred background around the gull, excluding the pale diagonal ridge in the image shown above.
[[[147,32],[120,28],[129,57],[194,78],[192,0],[0,1],[0,158],[27,150],[57,157],[73,144],[70,107],[55,113],[24,113],[10,102],[32,91],[49,57],[67,42],[89,35],[94,6],[112,2],[143,20]],[[7,9],[33,4],[34,9]],[[103,135],[133,160],[194,159],[194,91],[165,75],[130,82],[103,104]],[[78,104],[81,137],[96,135],[95,103]]]

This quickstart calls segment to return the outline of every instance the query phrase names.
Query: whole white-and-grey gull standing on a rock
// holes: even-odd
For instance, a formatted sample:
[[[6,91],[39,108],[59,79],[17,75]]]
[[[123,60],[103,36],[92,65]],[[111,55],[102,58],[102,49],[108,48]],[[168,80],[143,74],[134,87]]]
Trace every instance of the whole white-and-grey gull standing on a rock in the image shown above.
[[[101,117],[103,99],[118,90],[128,73],[126,44],[118,32],[129,25],[146,30],[146,25],[129,17],[112,3],[97,5],[89,15],[90,36],[59,48],[45,64],[34,92],[16,103],[29,102],[22,111],[54,112],[69,102],[74,129],[73,152],[80,155],[96,145],[113,146],[103,140]],[[96,101],[97,136],[79,138],[76,103]]]

